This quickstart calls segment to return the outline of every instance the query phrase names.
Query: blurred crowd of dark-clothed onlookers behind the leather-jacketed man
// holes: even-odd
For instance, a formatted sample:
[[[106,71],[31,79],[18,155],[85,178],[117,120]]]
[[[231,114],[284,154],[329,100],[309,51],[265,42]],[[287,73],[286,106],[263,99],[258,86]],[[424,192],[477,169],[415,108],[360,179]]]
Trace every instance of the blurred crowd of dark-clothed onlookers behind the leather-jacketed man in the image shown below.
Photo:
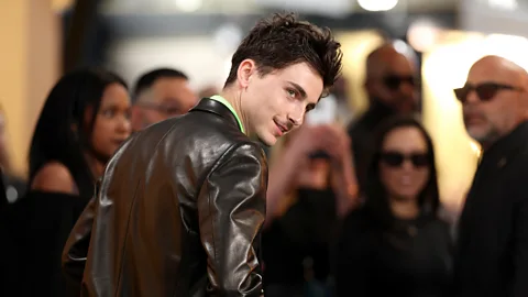
[[[301,128],[263,145],[265,296],[528,296],[526,70],[486,56],[453,90],[484,153],[464,208],[452,210],[440,201],[435,145],[421,123],[419,67],[391,41],[364,67],[365,112],[351,108],[341,77]],[[11,172],[0,110],[0,289],[20,292],[2,296],[74,289],[63,249],[106,164],[134,133],[220,92],[191,89],[173,68],[133,86],[109,69],[65,74],[38,117],[28,178]]]

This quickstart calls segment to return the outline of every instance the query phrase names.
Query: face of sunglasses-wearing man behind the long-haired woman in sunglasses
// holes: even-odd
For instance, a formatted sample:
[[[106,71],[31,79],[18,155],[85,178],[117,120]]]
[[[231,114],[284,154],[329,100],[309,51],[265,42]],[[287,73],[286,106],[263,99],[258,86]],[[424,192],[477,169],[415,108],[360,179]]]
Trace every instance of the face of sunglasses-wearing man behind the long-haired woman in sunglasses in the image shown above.
[[[418,103],[415,70],[404,55],[398,53],[392,55],[380,63],[375,75],[369,78],[369,95],[396,111],[413,112]]]

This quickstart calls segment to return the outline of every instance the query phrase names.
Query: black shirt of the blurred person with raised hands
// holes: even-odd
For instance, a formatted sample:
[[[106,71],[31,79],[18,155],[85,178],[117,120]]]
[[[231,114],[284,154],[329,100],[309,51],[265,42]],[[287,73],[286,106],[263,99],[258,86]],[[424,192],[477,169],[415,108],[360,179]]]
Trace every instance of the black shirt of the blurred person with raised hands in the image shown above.
[[[298,200],[263,232],[264,284],[302,285],[305,273],[327,282],[336,227],[331,190],[299,189]]]

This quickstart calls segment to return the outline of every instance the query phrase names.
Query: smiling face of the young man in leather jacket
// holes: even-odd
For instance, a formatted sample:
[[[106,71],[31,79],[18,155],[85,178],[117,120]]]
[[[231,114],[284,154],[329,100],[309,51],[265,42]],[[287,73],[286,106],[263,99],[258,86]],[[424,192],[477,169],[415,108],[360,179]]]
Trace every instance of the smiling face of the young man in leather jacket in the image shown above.
[[[321,76],[306,63],[262,77],[254,73],[241,100],[250,133],[266,145],[275,144],[277,138],[302,124],[322,90]]]

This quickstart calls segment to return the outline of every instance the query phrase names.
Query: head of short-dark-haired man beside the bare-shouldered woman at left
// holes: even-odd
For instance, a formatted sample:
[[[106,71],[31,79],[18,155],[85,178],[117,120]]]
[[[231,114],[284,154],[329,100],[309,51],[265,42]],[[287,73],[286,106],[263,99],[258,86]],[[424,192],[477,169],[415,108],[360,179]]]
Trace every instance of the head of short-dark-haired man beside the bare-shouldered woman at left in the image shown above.
[[[187,113],[198,102],[188,82],[187,75],[172,68],[157,68],[142,75],[132,95],[132,130],[140,131]]]

